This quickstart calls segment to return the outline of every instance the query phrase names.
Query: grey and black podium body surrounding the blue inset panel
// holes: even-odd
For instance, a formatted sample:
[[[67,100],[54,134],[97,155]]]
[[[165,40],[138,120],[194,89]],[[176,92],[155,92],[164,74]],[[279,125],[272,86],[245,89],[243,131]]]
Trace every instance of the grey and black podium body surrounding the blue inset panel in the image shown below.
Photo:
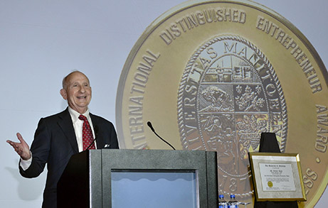
[[[214,151],[101,149],[70,158],[57,186],[58,207],[112,207],[111,173],[129,170],[192,171],[196,173],[199,207],[218,206]]]

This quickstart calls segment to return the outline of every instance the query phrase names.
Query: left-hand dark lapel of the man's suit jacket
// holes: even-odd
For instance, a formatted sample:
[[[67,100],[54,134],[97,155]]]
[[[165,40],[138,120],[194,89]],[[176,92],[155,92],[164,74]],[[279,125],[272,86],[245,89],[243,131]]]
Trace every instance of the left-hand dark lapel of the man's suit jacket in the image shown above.
[[[65,111],[59,114],[58,117],[58,125],[63,130],[63,133],[70,142],[70,145],[72,146],[75,153],[78,153],[78,142],[76,141],[74,127],[68,109],[65,109]]]

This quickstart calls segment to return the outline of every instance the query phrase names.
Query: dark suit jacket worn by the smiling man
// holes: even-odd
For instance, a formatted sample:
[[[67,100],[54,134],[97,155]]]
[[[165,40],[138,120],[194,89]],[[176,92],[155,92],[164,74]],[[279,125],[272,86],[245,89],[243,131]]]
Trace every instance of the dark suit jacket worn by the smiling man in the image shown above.
[[[117,134],[110,121],[90,114],[97,138],[97,149],[119,148]],[[73,122],[68,109],[40,119],[31,145],[32,163],[27,170],[19,165],[23,177],[37,177],[43,172],[47,163],[48,175],[43,192],[43,207],[57,207],[57,182],[63,173],[70,157],[78,153]]]

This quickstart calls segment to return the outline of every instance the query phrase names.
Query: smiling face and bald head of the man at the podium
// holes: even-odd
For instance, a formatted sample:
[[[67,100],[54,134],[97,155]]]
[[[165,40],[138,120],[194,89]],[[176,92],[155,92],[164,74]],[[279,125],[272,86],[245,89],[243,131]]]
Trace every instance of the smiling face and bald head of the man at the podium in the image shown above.
[[[85,113],[91,100],[91,87],[88,77],[80,72],[73,72],[66,80],[65,89],[60,90],[63,99],[80,114]]]

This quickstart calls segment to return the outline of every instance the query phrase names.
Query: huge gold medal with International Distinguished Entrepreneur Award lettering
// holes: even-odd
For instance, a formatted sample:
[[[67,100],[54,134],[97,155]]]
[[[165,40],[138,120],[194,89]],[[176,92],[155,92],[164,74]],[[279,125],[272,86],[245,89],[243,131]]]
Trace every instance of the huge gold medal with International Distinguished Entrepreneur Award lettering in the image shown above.
[[[220,194],[253,200],[248,152],[274,132],[299,153],[307,202],[328,181],[327,70],[289,21],[252,1],[186,1],[157,18],[122,70],[121,148],[215,150]],[[174,163],[174,161],[172,161]]]

